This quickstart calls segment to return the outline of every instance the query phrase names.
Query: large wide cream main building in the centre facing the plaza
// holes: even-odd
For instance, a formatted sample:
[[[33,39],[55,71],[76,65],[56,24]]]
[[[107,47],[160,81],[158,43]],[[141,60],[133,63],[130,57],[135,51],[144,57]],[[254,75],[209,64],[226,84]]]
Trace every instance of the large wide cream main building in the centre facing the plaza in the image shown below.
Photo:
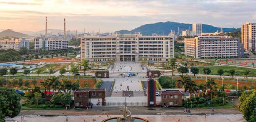
[[[81,59],[89,61],[168,61],[174,57],[171,36],[142,36],[140,33],[115,33],[112,36],[81,36]]]

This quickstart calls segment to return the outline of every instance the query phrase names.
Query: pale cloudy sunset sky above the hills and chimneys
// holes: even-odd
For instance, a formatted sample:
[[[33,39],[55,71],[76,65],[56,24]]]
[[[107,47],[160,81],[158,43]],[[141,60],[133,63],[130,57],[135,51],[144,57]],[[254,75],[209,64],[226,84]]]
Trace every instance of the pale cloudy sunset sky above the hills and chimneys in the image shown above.
[[[256,0],[0,0],[0,29],[132,30],[174,21],[240,28],[256,23]]]

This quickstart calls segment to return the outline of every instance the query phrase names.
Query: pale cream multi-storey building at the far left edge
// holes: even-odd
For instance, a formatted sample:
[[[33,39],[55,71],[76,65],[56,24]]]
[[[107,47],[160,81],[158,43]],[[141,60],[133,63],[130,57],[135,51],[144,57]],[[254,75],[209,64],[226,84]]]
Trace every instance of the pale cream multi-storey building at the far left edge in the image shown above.
[[[4,39],[0,41],[0,49],[14,49],[19,51],[21,47],[26,47],[29,49],[29,41],[25,40],[25,38],[11,38],[11,40]]]

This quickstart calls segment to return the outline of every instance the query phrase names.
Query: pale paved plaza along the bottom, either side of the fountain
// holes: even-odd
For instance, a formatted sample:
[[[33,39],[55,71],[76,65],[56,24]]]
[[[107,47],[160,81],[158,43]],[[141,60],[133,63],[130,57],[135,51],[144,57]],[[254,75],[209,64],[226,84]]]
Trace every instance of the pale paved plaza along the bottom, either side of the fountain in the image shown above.
[[[66,122],[66,117],[68,117],[68,122],[92,122],[92,119],[96,119],[96,122],[101,122],[106,119],[107,116],[57,116],[57,117],[37,117],[29,116],[24,117],[27,122]],[[110,117],[118,117],[117,115],[111,115]],[[132,115],[132,117],[142,117],[148,119],[150,122],[246,122],[243,119],[242,114],[207,114],[206,118],[204,115]],[[14,122],[17,120],[21,122],[21,117],[14,117],[7,122]]]

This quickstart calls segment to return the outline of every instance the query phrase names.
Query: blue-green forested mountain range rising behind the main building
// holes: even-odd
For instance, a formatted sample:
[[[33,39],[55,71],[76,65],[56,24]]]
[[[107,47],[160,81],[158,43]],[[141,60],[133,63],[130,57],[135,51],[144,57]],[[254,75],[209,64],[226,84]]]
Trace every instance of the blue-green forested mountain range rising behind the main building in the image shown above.
[[[217,30],[218,32],[220,32],[220,27],[214,27],[212,25],[206,24],[203,24],[202,26],[203,33],[214,33]],[[175,30],[175,33],[178,33],[178,27],[180,28],[180,34],[182,34],[183,30],[192,30],[192,24],[167,21],[141,25],[140,27],[133,30],[119,30],[116,32],[119,32],[121,34],[141,32],[145,36],[151,36],[153,33],[164,33],[165,35],[167,35],[168,33],[170,33],[170,30]],[[240,30],[240,28],[222,28],[223,32],[235,32],[236,29]]]

